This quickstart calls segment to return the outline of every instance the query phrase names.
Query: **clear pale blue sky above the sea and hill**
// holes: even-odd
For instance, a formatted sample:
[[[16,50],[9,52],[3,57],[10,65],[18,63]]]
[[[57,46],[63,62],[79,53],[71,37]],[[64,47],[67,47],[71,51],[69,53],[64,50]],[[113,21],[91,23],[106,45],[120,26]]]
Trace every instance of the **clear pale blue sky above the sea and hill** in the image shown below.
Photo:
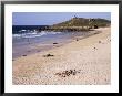
[[[52,25],[77,15],[111,20],[110,12],[13,12],[12,25]]]

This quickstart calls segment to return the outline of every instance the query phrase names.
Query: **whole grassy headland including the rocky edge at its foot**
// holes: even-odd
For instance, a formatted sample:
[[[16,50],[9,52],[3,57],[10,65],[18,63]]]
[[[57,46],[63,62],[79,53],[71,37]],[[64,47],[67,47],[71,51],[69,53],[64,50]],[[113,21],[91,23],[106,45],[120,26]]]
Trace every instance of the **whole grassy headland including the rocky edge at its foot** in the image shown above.
[[[85,18],[72,18],[68,21],[53,24],[44,30],[48,31],[61,31],[61,32],[70,32],[70,31],[89,31],[91,29],[98,29],[103,26],[109,26],[111,21],[105,19],[85,19]]]

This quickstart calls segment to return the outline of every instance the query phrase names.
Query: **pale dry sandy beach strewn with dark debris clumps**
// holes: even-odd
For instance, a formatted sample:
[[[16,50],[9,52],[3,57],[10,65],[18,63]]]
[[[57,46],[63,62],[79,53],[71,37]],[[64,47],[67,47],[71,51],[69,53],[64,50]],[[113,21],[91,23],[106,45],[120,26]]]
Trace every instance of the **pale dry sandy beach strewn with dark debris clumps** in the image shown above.
[[[99,34],[12,61],[14,85],[111,84],[111,28]],[[48,54],[48,55],[47,55]]]

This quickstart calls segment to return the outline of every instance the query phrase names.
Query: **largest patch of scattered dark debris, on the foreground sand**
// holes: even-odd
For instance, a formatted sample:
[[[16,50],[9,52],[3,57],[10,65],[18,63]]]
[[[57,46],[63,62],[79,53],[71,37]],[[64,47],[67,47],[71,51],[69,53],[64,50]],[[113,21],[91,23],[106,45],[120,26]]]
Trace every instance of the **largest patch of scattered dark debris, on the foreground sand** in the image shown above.
[[[69,70],[69,71],[63,71],[63,72],[59,72],[59,73],[55,73],[54,75],[58,75],[60,77],[67,77],[67,76],[70,76],[70,75],[77,75],[77,73],[80,73],[81,70]]]

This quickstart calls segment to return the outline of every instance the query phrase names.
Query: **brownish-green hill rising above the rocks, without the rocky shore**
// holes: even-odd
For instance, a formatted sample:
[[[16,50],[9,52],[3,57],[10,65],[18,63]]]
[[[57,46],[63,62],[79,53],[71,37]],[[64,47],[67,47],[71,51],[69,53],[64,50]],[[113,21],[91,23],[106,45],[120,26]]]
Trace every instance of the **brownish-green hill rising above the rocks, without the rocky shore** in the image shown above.
[[[72,18],[71,20],[53,24],[52,28],[59,26],[106,26],[111,21],[105,19],[84,19],[84,18]]]

